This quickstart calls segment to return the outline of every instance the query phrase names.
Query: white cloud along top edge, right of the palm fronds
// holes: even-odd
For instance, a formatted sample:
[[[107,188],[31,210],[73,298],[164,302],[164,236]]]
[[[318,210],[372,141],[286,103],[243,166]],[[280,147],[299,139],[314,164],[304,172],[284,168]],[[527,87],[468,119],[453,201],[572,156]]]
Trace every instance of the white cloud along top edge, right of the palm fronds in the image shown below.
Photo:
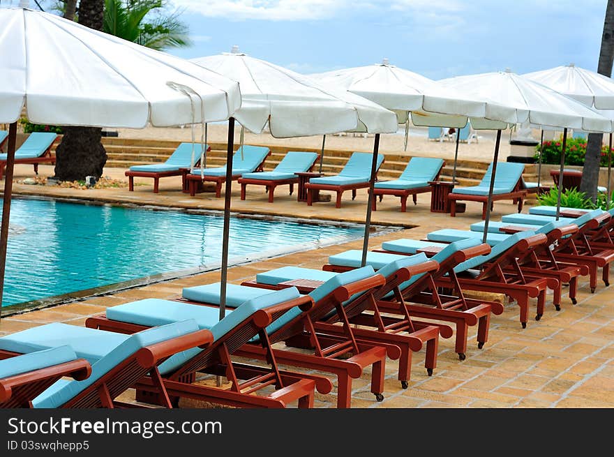
[[[193,13],[230,20],[322,20],[334,17],[349,0],[175,0]]]

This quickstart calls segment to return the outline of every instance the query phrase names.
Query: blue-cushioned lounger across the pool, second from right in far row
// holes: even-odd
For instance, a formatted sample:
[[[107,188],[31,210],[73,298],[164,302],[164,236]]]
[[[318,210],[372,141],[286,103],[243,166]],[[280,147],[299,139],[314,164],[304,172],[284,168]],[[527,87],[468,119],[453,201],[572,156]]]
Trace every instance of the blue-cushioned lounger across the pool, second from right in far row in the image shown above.
[[[437,181],[444,167],[445,162],[440,158],[413,157],[407,163],[405,170],[398,179],[391,181],[377,181],[373,188],[373,195],[380,197],[380,202],[384,195],[396,195],[400,197],[400,210],[405,212],[407,209],[407,197],[412,195],[414,204],[417,204],[416,195],[419,193],[431,192],[433,188],[430,181]],[[373,211],[377,209],[377,199],[374,198]]]

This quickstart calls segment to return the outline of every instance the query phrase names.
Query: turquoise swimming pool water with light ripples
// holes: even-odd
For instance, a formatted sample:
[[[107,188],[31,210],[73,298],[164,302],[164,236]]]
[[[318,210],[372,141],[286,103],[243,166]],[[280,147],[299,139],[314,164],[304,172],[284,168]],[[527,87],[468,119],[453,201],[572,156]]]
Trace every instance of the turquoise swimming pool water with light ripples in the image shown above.
[[[222,228],[222,216],[211,214],[15,199],[2,305],[219,264]],[[348,241],[363,231],[232,218],[229,262]]]

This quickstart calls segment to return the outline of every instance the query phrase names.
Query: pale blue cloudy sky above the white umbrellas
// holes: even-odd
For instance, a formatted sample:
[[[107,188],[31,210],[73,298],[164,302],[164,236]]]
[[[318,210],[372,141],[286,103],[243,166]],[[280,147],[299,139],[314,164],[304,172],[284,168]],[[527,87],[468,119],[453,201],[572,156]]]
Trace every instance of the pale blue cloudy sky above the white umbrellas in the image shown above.
[[[0,6],[18,0],[0,0]],[[50,0],[39,0],[45,7]],[[172,0],[191,59],[230,51],[299,73],[391,64],[434,80],[568,63],[597,70],[606,0]],[[33,0],[31,6],[36,8]]]

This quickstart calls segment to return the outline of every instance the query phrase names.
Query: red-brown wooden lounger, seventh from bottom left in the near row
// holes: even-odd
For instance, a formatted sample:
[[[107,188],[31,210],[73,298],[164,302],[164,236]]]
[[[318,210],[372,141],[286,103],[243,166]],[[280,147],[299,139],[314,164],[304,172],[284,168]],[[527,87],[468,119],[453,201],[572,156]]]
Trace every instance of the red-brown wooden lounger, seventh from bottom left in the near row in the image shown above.
[[[529,278],[522,273],[518,265],[518,257],[522,257],[535,250],[538,246],[546,243],[544,234],[533,232],[518,232],[491,248],[490,253],[475,255],[454,266],[454,275],[439,276],[435,285],[454,289],[454,286],[463,290],[477,290],[479,292],[491,292],[505,294],[516,301],[520,307],[520,321],[523,329],[527,327],[529,300],[537,298],[537,315],[535,320],[540,320],[544,315],[546,303],[546,289],[554,290],[557,285],[555,278]],[[464,239],[456,243],[480,242],[480,239]],[[437,244],[435,241],[400,239],[395,242],[396,248],[392,248],[387,242],[382,247],[394,253],[402,253],[400,247],[407,254],[424,252],[427,255],[435,255],[443,251],[448,244]],[[514,273],[506,271],[511,266]],[[457,282],[458,281],[458,282]]]

